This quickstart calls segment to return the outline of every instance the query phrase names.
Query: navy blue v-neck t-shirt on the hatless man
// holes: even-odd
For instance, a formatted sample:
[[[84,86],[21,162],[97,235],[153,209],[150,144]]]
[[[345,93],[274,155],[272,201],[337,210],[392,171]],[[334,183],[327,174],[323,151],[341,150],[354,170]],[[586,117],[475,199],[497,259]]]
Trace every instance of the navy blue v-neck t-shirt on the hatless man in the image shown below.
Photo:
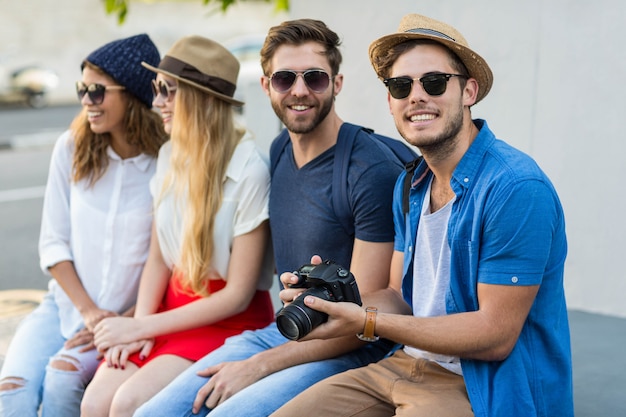
[[[332,207],[334,153],[335,146],[298,169],[289,142],[278,160],[269,212],[279,275],[308,264],[312,255],[350,268],[354,237],[346,234]],[[355,237],[364,241],[393,242],[391,202],[402,167],[389,153],[363,134],[352,149],[348,196]]]

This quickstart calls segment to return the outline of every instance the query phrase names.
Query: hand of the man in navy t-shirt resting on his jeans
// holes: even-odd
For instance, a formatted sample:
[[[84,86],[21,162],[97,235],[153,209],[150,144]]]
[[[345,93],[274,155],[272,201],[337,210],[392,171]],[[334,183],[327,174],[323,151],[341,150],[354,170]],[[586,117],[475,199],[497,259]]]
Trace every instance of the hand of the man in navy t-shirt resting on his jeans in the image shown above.
[[[265,375],[260,372],[258,364],[248,360],[224,362],[198,371],[199,376],[210,377],[209,381],[198,390],[193,402],[193,413],[200,411],[202,404],[213,409],[232,397],[237,392],[254,384]]]

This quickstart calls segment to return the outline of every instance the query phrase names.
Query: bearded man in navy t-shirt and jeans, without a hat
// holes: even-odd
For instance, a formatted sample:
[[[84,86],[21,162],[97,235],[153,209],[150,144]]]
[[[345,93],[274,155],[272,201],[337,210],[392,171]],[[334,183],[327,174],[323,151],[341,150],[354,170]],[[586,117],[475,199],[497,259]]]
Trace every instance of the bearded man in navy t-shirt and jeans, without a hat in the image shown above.
[[[270,226],[279,273],[317,254],[349,268],[366,294],[389,283],[391,201],[402,166],[359,133],[347,175],[354,234],[345,231],[331,199],[335,144],[349,130],[334,106],[343,85],[339,44],[323,22],[301,19],[271,28],[261,50],[261,84],[290,137],[272,176]],[[266,417],[315,382],[377,361],[391,347],[354,336],[300,343],[272,324],[228,339],[135,416]]]

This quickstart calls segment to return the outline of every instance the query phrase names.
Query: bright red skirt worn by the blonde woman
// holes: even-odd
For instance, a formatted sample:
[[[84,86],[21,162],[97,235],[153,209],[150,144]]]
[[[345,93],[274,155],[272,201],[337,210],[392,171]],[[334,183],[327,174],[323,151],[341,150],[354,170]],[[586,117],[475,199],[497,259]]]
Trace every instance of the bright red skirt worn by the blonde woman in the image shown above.
[[[226,281],[209,280],[211,297],[226,286]],[[172,275],[159,307],[159,312],[173,310],[202,298],[183,291],[179,275]],[[224,344],[226,338],[244,330],[260,329],[274,320],[274,308],[269,291],[257,291],[248,308],[234,316],[208,326],[157,336],[150,354],[143,360],[139,353],[130,355],[129,361],[141,367],[159,355],[176,355],[197,361]]]

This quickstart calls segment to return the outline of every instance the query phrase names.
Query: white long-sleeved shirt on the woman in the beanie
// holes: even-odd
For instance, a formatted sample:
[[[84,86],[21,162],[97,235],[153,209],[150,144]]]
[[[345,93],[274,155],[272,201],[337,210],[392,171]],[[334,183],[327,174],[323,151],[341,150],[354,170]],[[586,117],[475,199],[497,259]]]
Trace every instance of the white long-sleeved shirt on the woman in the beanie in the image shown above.
[[[72,261],[85,290],[99,308],[122,313],[135,304],[148,256],[152,226],[149,181],[156,159],[122,159],[111,147],[109,165],[93,185],[71,180],[74,138],[57,140],[44,197],[39,256],[41,269]],[[71,337],[82,317],[56,280],[48,285],[59,308],[61,333]]]

